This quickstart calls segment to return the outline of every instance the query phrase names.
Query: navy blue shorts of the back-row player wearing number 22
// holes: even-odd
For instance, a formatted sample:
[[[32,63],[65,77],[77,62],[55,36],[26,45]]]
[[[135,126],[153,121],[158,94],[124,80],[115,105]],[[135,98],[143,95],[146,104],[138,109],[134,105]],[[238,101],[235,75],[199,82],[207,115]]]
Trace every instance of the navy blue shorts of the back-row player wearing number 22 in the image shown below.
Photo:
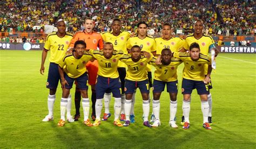
[[[57,89],[58,83],[60,80],[59,76],[59,65],[56,63],[50,63],[49,71],[48,71],[48,78],[46,87],[48,89]]]

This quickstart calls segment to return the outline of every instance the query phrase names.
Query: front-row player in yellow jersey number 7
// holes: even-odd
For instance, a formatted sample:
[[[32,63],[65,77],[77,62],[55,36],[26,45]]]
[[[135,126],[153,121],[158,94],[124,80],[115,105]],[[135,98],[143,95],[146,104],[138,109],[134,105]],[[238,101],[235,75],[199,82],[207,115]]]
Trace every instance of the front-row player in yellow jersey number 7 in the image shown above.
[[[156,58],[150,61],[156,70],[154,71],[153,82],[153,113],[156,117],[153,127],[160,125],[159,111],[160,111],[160,96],[164,91],[165,85],[167,92],[170,94],[170,121],[169,124],[173,128],[177,128],[176,121],[174,120],[177,112],[177,93],[178,93],[178,79],[177,67],[182,61],[179,58],[172,58],[170,49],[163,49],[161,51],[161,65],[156,65]]]

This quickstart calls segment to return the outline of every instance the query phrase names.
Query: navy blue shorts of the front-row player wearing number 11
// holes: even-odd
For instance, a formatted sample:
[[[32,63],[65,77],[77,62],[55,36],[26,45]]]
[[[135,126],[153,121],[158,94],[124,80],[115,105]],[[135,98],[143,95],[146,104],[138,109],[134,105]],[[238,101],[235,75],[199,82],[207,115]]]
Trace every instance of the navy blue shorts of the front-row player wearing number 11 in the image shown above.
[[[143,80],[143,81],[132,81],[125,79],[125,93],[126,94],[133,94],[134,90],[139,88],[141,93],[149,93],[149,80]]]

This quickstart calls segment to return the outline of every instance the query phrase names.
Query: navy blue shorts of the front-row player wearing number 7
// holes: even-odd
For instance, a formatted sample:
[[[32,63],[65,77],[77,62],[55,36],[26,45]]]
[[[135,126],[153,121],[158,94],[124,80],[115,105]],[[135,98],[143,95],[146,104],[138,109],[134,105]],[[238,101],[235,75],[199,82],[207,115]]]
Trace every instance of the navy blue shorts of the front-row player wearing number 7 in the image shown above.
[[[153,82],[153,93],[160,93],[164,91],[165,84],[167,86],[167,92],[178,93],[178,80],[172,82],[163,82],[154,79]]]

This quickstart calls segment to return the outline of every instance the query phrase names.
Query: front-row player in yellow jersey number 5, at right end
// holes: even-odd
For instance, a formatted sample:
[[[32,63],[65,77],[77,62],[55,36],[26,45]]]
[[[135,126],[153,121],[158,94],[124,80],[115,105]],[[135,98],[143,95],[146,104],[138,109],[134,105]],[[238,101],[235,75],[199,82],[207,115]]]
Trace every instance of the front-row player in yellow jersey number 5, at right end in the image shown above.
[[[201,99],[201,111],[203,112],[203,127],[211,130],[208,123],[209,104],[207,95],[209,94],[208,83],[210,83],[210,75],[212,71],[211,57],[200,53],[200,46],[197,43],[190,45],[189,53],[174,53],[174,57],[180,58],[184,63],[182,93],[183,93],[183,114],[184,126],[186,130],[190,127],[190,96],[193,89],[197,89],[197,93]],[[204,73],[204,65],[208,65],[207,75]]]

